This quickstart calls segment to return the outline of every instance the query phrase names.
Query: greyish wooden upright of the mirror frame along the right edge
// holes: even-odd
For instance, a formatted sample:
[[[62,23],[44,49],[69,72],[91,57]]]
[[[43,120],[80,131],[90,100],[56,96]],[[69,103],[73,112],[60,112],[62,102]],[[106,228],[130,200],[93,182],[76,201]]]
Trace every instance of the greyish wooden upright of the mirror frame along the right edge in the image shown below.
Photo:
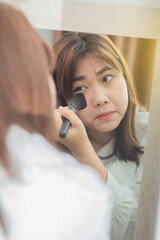
[[[134,240],[153,240],[160,189],[160,40],[157,40],[150,122]]]

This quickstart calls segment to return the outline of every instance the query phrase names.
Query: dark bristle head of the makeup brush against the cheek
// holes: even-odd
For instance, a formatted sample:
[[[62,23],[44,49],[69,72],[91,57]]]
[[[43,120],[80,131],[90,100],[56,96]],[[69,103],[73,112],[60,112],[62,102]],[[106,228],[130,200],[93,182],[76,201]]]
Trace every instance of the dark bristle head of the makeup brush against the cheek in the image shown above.
[[[69,101],[69,108],[75,110],[84,109],[87,106],[86,99],[82,93],[74,94]]]

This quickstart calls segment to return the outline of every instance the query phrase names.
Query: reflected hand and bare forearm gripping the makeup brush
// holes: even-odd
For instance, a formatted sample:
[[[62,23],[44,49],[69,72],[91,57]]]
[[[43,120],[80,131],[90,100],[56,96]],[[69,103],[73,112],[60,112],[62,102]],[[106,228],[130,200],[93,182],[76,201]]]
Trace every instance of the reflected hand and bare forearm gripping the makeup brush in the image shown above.
[[[69,127],[67,136],[60,138],[59,132],[63,124],[63,117],[71,122],[71,126]],[[107,180],[107,170],[93,149],[86,129],[78,116],[68,107],[59,107],[54,112],[54,119],[56,125],[56,141],[66,146],[79,162],[93,167]]]

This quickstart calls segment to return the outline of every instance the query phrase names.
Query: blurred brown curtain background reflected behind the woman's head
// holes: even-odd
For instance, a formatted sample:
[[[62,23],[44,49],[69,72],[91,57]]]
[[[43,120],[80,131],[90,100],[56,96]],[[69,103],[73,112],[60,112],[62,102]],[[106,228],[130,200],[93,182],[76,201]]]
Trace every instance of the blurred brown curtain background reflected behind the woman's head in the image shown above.
[[[66,33],[44,29],[37,31],[50,47]],[[109,37],[125,57],[136,83],[139,100],[149,110],[156,40],[111,35]]]

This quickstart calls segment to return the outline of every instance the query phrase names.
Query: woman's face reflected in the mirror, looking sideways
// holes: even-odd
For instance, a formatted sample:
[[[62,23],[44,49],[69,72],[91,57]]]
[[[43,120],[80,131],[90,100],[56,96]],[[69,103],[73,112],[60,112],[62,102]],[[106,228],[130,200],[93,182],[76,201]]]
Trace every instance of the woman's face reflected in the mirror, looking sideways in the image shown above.
[[[80,59],[74,75],[74,93],[83,93],[87,107],[77,111],[87,131],[111,133],[123,119],[128,91],[122,73],[92,56]]]

